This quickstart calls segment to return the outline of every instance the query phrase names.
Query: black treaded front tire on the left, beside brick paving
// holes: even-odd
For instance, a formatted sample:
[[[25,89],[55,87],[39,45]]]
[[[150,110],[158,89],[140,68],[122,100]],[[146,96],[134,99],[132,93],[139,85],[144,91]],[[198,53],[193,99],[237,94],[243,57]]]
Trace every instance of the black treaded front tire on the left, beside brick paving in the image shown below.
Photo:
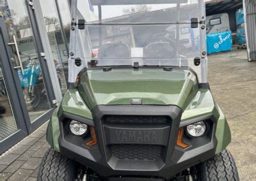
[[[40,164],[37,180],[75,180],[79,166],[50,148]]]

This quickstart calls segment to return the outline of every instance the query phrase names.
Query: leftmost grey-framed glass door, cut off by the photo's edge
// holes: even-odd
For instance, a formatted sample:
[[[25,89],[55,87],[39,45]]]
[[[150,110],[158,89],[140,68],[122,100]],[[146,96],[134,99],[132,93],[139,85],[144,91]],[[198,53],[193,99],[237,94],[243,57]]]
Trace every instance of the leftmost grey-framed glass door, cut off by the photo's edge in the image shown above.
[[[0,156],[28,135],[8,57],[6,27],[0,13]]]

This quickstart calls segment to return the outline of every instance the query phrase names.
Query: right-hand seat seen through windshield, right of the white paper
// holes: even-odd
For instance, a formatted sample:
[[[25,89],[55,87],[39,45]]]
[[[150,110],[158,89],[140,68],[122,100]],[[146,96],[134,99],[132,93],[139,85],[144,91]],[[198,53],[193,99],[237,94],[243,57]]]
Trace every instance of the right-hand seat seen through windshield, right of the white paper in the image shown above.
[[[151,41],[152,43],[145,48],[146,57],[170,59],[177,56],[177,45],[172,38],[164,36],[163,33],[157,33]]]

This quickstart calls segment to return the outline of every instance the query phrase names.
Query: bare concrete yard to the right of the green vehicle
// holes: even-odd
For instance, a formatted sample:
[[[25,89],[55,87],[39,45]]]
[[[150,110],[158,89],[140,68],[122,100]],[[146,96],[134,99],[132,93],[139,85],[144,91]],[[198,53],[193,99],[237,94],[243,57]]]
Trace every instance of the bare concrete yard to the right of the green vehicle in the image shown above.
[[[210,55],[209,83],[232,131],[232,152],[241,180],[256,180],[256,62],[246,51]]]

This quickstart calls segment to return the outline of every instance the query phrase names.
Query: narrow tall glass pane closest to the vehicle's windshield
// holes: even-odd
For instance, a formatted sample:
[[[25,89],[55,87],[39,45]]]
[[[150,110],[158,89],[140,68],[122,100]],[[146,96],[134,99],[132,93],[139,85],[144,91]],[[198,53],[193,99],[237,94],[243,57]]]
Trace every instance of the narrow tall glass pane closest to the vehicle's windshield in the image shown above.
[[[68,78],[68,52],[61,32],[60,19],[58,18],[56,4],[52,0],[41,0],[40,4],[44,15],[48,38],[51,44],[52,55],[56,65],[61,92],[65,93],[67,91]]]

